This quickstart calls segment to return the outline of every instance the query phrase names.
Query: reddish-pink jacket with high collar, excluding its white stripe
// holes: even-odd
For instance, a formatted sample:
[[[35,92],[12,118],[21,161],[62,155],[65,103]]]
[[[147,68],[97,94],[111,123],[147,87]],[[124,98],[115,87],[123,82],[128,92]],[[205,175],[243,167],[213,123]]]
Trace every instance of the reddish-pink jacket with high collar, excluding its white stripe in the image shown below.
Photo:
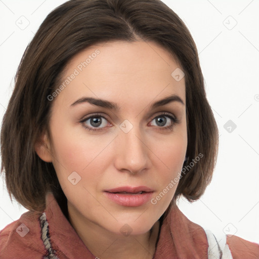
[[[189,221],[176,207],[161,225],[153,259],[215,258],[208,257],[208,240],[204,229]],[[218,258],[259,258],[259,245],[237,236],[227,236],[226,248],[231,255]],[[27,211],[0,231],[0,258],[96,259],[96,256],[67,221],[53,194],[48,193],[43,213]]]

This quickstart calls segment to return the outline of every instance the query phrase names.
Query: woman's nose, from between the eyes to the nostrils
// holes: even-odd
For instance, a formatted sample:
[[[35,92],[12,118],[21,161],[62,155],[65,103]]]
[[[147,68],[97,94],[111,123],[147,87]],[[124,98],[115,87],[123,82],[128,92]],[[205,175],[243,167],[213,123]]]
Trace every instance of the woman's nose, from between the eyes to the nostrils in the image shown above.
[[[136,174],[147,169],[150,165],[149,149],[144,134],[138,126],[125,133],[119,130],[115,144],[115,167],[119,171]]]

